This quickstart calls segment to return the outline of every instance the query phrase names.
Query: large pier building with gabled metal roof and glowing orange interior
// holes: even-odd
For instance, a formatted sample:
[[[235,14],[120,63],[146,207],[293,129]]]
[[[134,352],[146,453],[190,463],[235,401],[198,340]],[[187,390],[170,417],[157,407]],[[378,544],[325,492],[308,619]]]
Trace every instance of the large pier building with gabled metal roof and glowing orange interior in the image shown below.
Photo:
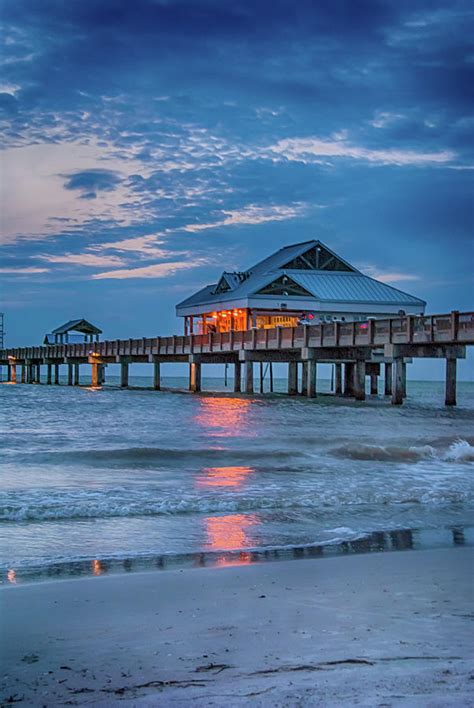
[[[224,271],[176,307],[184,334],[423,315],[426,302],[361,273],[318,240]]]

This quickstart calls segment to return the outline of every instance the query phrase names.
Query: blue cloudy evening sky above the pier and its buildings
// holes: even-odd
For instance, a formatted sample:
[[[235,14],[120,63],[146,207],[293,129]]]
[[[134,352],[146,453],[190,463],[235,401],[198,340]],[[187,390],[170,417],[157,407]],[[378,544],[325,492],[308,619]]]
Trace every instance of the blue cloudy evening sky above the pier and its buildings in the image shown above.
[[[474,299],[470,0],[0,0],[6,344],[180,332],[222,270],[319,238]]]

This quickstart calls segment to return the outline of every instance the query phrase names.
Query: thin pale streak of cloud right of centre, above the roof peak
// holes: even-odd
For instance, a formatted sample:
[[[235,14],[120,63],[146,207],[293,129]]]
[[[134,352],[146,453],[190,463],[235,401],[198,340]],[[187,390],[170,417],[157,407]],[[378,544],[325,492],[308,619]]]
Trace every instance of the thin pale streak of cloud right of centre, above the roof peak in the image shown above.
[[[395,150],[392,148],[371,149],[352,145],[346,140],[310,138],[286,138],[268,148],[272,153],[282,155],[287,160],[304,163],[331,164],[320,158],[347,158],[362,160],[378,165],[427,165],[444,164],[456,157],[450,150],[439,152],[418,152],[416,150]],[[319,159],[318,159],[319,158]]]

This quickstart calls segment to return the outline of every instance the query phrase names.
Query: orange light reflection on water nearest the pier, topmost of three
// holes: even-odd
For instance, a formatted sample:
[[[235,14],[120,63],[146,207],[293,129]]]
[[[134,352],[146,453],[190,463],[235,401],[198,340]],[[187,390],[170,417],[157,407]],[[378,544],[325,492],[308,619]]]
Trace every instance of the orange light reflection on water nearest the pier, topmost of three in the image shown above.
[[[244,398],[201,398],[195,422],[214,437],[230,438],[250,434],[247,410],[251,402]]]

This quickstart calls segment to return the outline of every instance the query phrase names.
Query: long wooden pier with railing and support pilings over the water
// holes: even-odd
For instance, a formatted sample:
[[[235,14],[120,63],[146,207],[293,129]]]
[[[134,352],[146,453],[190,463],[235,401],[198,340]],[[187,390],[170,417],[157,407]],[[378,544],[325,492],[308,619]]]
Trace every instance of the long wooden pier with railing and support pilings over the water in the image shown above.
[[[41,367],[47,367],[46,382],[59,384],[59,367],[67,366],[67,383],[79,385],[79,367],[91,366],[91,383],[100,388],[107,364],[120,364],[121,386],[128,386],[133,363],[153,364],[153,387],[160,389],[161,365],[189,364],[189,388],[201,390],[202,364],[232,364],[234,391],[254,392],[254,363],[288,364],[288,394],[298,393],[298,367],[302,371],[300,393],[315,397],[318,363],[335,365],[334,390],[356,400],[365,399],[365,380],[370,392],[378,391],[378,376],[384,371],[384,394],[395,405],[406,396],[406,363],[413,358],[446,360],[445,404],[456,405],[456,363],[474,345],[474,312],[445,315],[372,319],[367,322],[334,322],[299,327],[276,327],[247,331],[172,337],[117,339],[81,344],[52,344],[0,351],[0,366],[7,367],[11,383],[39,383]],[[18,367],[21,368],[18,376]]]

